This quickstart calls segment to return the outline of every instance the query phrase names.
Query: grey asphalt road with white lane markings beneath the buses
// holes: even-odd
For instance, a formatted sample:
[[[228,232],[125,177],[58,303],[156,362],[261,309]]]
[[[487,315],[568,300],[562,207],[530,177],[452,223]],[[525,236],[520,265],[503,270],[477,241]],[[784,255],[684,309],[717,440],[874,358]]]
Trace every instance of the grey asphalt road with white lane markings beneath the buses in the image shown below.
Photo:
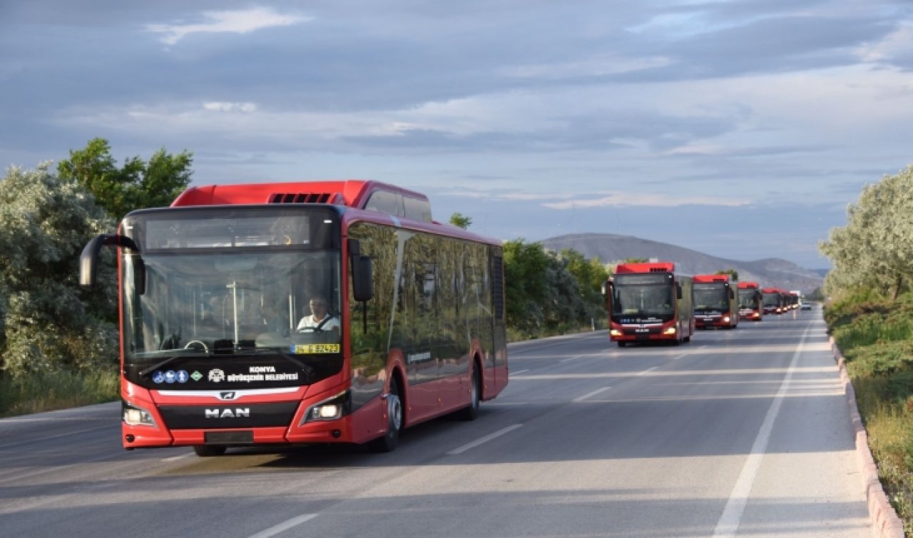
[[[125,451],[119,405],[0,420],[0,536],[871,537],[820,311],[681,346],[511,344],[473,422],[358,447]]]

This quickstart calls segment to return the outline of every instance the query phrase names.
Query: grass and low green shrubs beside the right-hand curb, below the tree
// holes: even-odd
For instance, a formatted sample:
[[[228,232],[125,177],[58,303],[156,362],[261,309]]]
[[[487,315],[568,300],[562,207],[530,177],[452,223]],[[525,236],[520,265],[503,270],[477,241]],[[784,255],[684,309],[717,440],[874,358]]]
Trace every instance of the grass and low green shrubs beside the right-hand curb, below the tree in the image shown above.
[[[913,297],[845,302],[824,314],[887,497],[913,536]]]

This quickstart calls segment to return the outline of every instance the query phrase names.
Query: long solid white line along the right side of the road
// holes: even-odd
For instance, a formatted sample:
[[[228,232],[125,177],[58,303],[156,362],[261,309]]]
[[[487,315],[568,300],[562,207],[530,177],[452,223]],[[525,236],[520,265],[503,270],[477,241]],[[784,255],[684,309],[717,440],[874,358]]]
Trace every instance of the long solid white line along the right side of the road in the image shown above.
[[[736,530],[739,529],[742,513],[745,512],[745,505],[748,503],[751,487],[754,485],[755,475],[758,474],[758,468],[761,467],[761,459],[764,457],[767,443],[771,440],[773,422],[780,413],[783,397],[786,396],[786,389],[792,380],[792,372],[795,370],[796,363],[799,362],[799,355],[802,354],[805,338],[808,337],[808,333],[811,330],[812,327],[809,325],[805,329],[805,332],[803,332],[802,340],[799,341],[795,353],[792,353],[792,363],[790,364],[789,370],[787,370],[786,375],[783,377],[783,382],[780,385],[780,390],[777,391],[777,396],[774,396],[773,398],[771,408],[767,410],[767,416],[764,417],[764,423],[761,424],[761,429],[758,430],[758,437],[754,439],[754,445],[751,446],[751,452],[748,459],[745,460],[745,465],[742,466],[739,478],[736,480],[736,485],[732,488],[732,493],[729,494],[729,501],[726,503],[726,508],[723,509],[723,514],[719,516],[717,528],[713,531],[714,538],[735,536]]]

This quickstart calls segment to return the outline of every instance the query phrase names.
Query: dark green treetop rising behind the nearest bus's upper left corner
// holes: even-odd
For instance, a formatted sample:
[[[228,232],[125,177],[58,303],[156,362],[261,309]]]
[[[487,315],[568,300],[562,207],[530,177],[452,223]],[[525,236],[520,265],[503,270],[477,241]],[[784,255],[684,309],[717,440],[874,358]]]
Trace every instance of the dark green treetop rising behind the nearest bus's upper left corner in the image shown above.
[[[130,157],[118,168],[108,141],[94,138],[85,149],[69,152],[58,164],[58,176],[82,185],[110,216],[121,218],[134,209],[170,205],[190,185],[192,163],[192,153],[171,155],[162,148],[148,163]]]

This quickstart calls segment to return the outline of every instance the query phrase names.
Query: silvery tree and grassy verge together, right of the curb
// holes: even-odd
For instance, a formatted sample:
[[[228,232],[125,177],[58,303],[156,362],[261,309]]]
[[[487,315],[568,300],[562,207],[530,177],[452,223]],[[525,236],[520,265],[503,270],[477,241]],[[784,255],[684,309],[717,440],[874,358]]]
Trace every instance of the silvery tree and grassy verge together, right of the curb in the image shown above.
[[[866,185],[831,258],[824,319],[846,358],[878,474],[913,535],[913,166]]]

